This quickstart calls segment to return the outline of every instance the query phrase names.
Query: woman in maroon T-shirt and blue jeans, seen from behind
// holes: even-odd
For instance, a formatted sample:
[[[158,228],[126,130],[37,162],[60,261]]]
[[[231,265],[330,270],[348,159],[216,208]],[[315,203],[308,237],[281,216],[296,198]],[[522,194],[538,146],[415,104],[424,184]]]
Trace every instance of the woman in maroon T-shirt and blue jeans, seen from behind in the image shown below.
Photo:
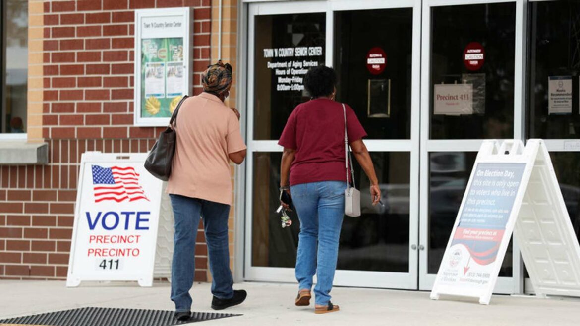
[[[329,67],[311,68],[304,78],[311,100],[293,111],[278,144],[284,146],[280,190],[292,195],[300,219],[296,279],[297,306],[310,304],[314,274],[316,313],[338,311],[330,301],[336,270],[340,227],[345,213],[345,115],[335,102],[336,73]],[[371,181],[373,205],[380,190],[362,128],[353,109],[346,107],[346,129],[354,157]],[[289,176],[289,180],[288,180]],[[284,205],[284,204],[283,204]]]

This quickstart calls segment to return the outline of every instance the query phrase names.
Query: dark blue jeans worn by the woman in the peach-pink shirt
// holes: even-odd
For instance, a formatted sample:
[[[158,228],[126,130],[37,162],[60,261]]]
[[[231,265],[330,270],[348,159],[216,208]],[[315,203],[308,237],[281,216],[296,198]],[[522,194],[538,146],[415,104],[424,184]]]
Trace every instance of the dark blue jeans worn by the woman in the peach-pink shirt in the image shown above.
[[[171,300],[175,302],[175,311],[191,310],[189,290],[195,275],[195,238],[201,216],[204,218],[209,270],[213,278],[212,294],[220,299],[232,298],[234,281],[227,234],[230,205],[175,194],[169,197],[175,219],[171,265]]]

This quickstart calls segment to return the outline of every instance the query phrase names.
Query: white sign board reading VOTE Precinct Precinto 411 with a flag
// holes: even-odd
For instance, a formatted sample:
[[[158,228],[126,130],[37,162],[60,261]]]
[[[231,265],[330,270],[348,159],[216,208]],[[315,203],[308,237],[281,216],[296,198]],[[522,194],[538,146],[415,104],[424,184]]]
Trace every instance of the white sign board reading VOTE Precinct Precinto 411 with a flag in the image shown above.
[[[81,281],[153,284],[161,181],[146,154],[82,155],[67,286]]]

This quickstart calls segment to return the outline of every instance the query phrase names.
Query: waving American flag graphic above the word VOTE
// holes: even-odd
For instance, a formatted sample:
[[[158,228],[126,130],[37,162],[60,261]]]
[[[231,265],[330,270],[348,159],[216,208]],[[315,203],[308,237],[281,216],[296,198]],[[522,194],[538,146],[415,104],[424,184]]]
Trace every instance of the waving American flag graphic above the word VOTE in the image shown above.
[[[95,202],[149,200],[139,185],[139,173],[134,168],[93,165],[93,189]]]

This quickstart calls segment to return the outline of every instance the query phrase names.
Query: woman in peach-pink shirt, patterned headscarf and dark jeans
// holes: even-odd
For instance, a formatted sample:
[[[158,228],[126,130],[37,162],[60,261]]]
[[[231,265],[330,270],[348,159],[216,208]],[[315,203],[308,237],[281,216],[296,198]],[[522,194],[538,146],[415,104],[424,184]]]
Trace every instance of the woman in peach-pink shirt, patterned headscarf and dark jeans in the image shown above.
[[[241,164],[246,156],[240,114],[223,103],[231,83],[230,64],[219,61],[209,66],[202,74],[204,92],[186,99],[176,119],[177,143],[167,192],[175,219],[171,300],[178,320],[191,316],[189,290],[195,274],[195,238],[201,217],[213,277],[212,308],[238,305],[247,295],[244,290],[232,288],[230,270],[230,160]]]

